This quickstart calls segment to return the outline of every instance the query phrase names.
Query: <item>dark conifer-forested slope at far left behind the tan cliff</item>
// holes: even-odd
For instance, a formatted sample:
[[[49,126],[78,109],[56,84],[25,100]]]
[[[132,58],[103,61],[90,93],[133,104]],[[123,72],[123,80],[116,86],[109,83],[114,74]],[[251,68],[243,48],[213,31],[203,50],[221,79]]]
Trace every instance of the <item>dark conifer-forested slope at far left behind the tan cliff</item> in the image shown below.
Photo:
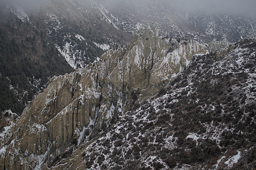
[[[20,114],[27,101],[44,90],[48,77],[73,69],[30,21],[6,6],[1,5],[0,12],[0,112]]]

